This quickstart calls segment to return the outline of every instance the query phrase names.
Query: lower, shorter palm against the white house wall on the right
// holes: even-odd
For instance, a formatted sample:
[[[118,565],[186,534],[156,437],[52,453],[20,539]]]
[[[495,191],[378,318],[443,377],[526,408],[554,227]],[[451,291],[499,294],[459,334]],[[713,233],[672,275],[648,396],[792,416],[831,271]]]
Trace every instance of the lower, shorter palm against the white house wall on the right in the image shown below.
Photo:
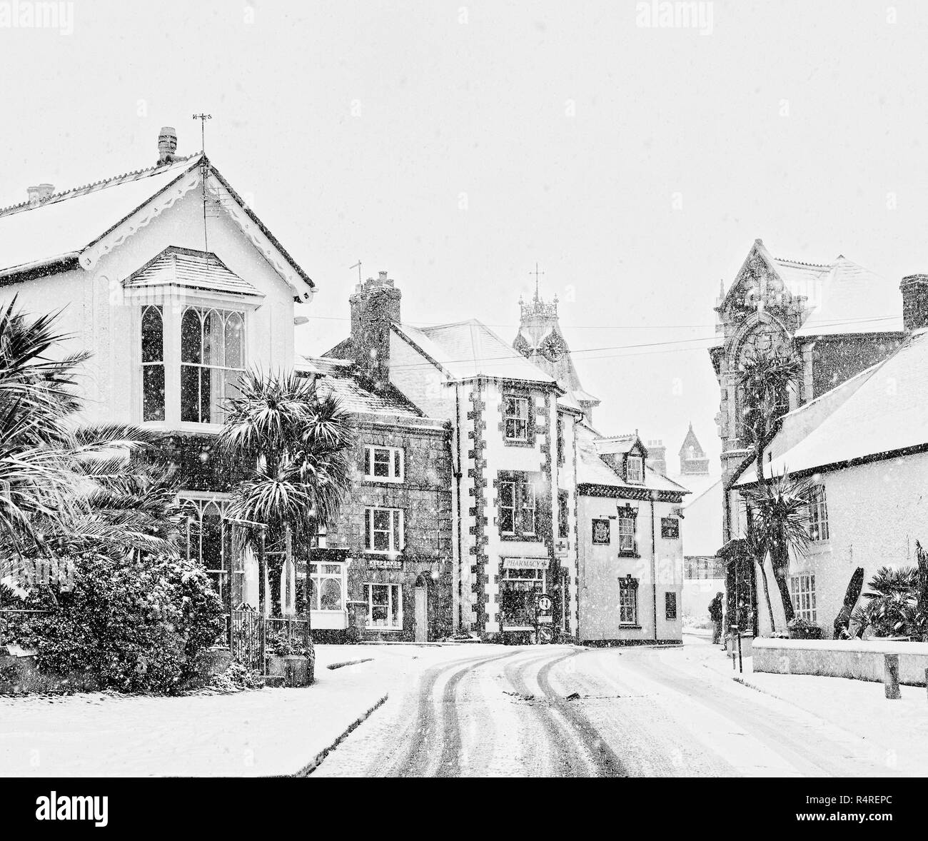
[[[786,578],[790,568],[790,553],[804,555],[811,537],[808,532],[808,505],[815,485],[808,479],[793,479],[788,472],[743,491],[748,509],[749,544],[755,551],[764,581],[770,628],[776,630],[773,609],[767,589],[764,569],[767,557],[773,577],[780,589],[780,601],[786,621],[793,619],[793,597]]]

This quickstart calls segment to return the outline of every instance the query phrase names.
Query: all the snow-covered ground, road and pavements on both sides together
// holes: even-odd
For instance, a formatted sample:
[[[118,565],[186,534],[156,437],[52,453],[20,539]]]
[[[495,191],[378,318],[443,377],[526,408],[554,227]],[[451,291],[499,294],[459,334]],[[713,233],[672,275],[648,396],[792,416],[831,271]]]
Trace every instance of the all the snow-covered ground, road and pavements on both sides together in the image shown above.
[[[887,701],[878,683],[753,675],[749,658],[742,685],[707,640],[316,652],[305,689],[0,698],[0,774],[300,773],[377,706],[310,779],[928,775],[923,689]]]

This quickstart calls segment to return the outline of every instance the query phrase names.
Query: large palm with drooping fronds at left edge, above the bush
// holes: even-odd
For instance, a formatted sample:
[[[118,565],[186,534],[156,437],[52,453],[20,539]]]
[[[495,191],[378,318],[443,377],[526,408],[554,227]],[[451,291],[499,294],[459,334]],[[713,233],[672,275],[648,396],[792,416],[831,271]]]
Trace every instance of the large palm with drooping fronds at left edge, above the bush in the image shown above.
[[[174,494],[157,436],[75,425],[76,378],[89,355],[59,353],[70,337],[57,321],[28,316],[15,298],[0,313],[0,561],[173,551]]]

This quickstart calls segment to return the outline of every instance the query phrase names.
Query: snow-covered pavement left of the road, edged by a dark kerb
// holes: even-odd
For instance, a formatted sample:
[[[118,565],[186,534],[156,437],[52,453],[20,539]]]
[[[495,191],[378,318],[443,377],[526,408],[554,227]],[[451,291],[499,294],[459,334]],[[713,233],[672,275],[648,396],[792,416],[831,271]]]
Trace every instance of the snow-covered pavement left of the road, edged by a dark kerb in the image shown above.
[[[318,646],[316,683],[303,689],[176,698],[0,697],[0,775],[297,773],[390,692],[436,660],[471,648]],[[372,659],[327,667],[365,658]]]

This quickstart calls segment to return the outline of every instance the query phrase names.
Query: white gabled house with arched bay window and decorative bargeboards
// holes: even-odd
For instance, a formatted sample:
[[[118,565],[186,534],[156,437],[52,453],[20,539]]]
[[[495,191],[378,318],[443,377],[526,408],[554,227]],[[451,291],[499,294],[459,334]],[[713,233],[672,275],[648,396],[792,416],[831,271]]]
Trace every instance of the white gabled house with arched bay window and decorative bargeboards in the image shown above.
[[[162,129],[154,166],[67,190],[39,185],[0,210],[0,303],[60,311],[73,336],[65,350],[93,353],[85,421],[162,431],[178,460],[200,465],[181,493],[186,550],[228,606],[254,601],[246,579],[256,573],[232,557],[220,522],[220,401],[242,369],[292,367],[295,307],[314,284],[212,162],[179,157],[176,145]]]

